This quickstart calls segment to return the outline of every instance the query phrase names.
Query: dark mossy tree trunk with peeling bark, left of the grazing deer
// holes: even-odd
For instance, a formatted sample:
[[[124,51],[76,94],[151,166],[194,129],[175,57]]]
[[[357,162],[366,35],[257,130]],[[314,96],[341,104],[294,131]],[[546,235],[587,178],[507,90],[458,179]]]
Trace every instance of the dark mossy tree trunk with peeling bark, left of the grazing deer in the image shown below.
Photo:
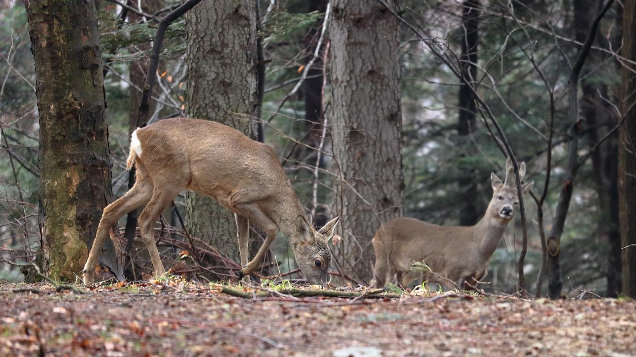
[[[92,1],[26,2],[39,110],[39,207],[45,270],[74,280],[111,198],[104,76]],[[113,244],[100,263],[121,276]]]

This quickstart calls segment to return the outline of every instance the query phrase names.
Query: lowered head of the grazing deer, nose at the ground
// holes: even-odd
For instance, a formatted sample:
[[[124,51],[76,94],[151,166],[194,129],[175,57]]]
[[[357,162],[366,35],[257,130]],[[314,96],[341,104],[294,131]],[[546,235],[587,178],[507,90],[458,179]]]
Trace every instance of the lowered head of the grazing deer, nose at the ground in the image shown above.
[[[327,242],[333,237],[338,217],[316,231],[305,217],[296,217],[294,234],[289,238],[296,256],[296,264],[310,283],[327,283],[327,271],[331,264],[331,250]]]

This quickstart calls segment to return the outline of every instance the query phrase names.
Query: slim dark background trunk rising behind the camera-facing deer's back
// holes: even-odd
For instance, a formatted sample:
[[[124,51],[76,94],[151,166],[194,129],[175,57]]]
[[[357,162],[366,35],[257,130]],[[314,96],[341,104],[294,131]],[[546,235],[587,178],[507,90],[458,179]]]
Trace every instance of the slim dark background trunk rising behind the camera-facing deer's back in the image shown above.
[[[462,4],[462,54],[460,56],[460,64],[462,76],[470,83],[476,82],[477,76],[477,44],[479,42],[479,11],[480,3],[478,0],[466,0]],[[459,142],[467,148],[471,146],[470,135],[476,123],[476,107],[473,97],[473,91],[466,83],[462,83],[459,87],[459,120],[457,122],[457,133],[459,134]],[[472,156],[467,152],[462,152],[461,156]],[[462,161],[463,162],[463,161]],[[480,210],[478,198],[480,196],[477,189],[477,182],[474,180],[472,165],[465,165],[462,172],[465,174],[459,179],[459,189],[461,194],[460,201],[462,208],[459,213],[460,226],[473,226],[481,219],[483,212]]]

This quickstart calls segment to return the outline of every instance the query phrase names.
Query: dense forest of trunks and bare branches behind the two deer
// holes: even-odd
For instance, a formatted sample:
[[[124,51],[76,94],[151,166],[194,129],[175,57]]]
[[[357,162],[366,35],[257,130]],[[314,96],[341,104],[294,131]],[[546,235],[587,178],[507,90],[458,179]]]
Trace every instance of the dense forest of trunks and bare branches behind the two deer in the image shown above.
[[[548,277],[559,274],[570,297],[581,290],[617,297],[621,252],[623,271],[636,269],[635,253],[621,250],[628,239],[635,243],[634,231],[625,224],[621,245],[619,225],[619,198],[632,207],[635,199],[631,185],[619,187],[619,163],[633,156],[628,145],[619,156],[626,144],[617,129],[634,102],[621,89],[621,72],[634,68],[623,48],[633,34],[621,30],[623,18],[634,16],[625,17],[627,3],[607,10],[595,0],[204,0],[167,30],[151,74],[148,124],[191,116],[272,145],[315,227],[341,217],[331,270],[351,283],[371,278],[369,243],[381,222],[399,215],[478,222],[492,198],[490,173],[504,173],[509,145],[527,165],[525,181],[534,181],[523,199],[527,232],[516,212],[480,286],[544,296]],[[102,71],[103,93],[88,97],[78,83],[71,86],[77,91],[38,97],[47,83],[77,75],[38,69],[34,57],[49,57],[32,44],[29,20],[46,15],[0,0],[1,279],[31,278],[15,264],[32,261],[55,278],[81,277],[101,210],[128,189],[125,159],[130,132],[144,124],[137,112],[158,20],[180,4],[97,1],[99,36],[90,45],[100,60],[88,63],[101,62],[93,71]],[[373,69],[362,65],[367,60]],[[64,105],[82,95],[103,101],[90,109],[102,114],[65,121]],[[69,104],[60,104],[57,117],[43,113],[56,100]],[[82,144],[87,137],[97,144]],[[83,158],[86,151],[97,159],[83,161],[85,173],[60,171],[65,152]],[[571,203],[560,204],[563,192]],[[69,220],[74,232],[56,231]],[[114,245],[100,262],[136,280],[151,269],[143,245],[127,239],[134,225],[126,222],[111,232]],[[182,192],[155,232],[173,273],[215,280],[237,269],[233,216],[210,199]],[[56,234],[63,238],[55,241]],[[253,239],[262,237],[253,232]],[[296,271],[280,234],[261,275]]]

